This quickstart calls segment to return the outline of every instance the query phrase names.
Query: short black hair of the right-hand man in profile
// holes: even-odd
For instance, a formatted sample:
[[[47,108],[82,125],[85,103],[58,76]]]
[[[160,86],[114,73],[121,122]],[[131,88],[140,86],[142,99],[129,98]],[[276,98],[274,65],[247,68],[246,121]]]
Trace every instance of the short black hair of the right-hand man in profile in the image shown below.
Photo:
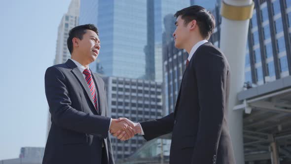
[[[176,18],[181,15],[184,24],[196,20],[202,37],[209,39],[215,29],[215,18],[213,14],[202,6],[193,5],[177,11],[174,15]]]

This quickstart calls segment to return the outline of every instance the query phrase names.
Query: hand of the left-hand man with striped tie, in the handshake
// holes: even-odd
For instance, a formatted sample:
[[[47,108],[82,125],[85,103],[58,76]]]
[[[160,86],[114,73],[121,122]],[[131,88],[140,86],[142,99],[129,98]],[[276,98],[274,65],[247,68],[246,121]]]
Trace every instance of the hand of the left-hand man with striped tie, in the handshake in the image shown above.
[[[112,134],[122,135],[122,137],[118,138],[122,141],[132,138],[136,133],[132,126],[128,125],[125,121],[118,121],[118,119],[112,119],[109,130]]]

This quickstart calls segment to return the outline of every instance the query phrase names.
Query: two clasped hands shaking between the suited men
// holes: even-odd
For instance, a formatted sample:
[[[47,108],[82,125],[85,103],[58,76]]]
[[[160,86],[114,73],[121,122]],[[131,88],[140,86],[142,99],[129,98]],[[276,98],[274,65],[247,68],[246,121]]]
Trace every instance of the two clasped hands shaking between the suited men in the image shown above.
[[[109,131],[117,139],[125,141],[134,137],[135,134],[142,133],[142,128],[139,123],[133,123],[127,118],[119,118],[112,119]]]

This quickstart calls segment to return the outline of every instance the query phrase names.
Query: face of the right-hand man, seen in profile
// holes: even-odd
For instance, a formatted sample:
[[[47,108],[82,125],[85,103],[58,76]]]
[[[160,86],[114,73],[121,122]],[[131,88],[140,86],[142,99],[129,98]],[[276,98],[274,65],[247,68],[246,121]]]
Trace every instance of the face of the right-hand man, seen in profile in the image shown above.
[[[176,30],[173,33],[173,37],[175,40],[175,47],[176,48],[184,48],[184,44],[188,41],[189,38],[189,31],[188,25],[184,24],[184,20],[181,18],[181,15],[178,16],[176,22]]]

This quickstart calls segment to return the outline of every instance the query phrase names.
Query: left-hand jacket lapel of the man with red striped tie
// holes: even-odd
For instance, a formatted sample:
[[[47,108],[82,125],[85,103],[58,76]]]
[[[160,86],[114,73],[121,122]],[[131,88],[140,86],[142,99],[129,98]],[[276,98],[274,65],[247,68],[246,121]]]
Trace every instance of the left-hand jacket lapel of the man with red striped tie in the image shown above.
[[[90,92],[90,89],[89,89],[89,86],[87,84],[87,82],[85,81],[85,78],[83,76],[83,74],[80,72],[80,70],[78,69],[78,67],[75,65],[75,63],[73,63],[72,60],[68,60],[66,62],[66,64],[71,67],[73,70],[72,70],[72,73],[75,75],[75,77],[79,80],[79,82],[81,83],[81,85],[83,86],[84,90],[86,91],[93,107],[95,107],[94,105],[94,101],[93,101],[93,97],[91,95],[91,92]],[[95,110],[96,111],[96,110]]]

